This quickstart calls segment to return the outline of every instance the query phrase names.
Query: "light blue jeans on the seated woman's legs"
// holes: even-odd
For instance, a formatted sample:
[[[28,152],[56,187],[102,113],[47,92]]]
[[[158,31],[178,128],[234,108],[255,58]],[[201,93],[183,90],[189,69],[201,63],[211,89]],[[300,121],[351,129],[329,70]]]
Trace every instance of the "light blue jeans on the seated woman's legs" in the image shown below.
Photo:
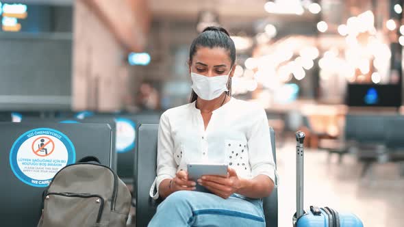
[[[227,199],[212,193],[176,191],[158,207],[154,226],[265,226],[262,200],[233,194]]]

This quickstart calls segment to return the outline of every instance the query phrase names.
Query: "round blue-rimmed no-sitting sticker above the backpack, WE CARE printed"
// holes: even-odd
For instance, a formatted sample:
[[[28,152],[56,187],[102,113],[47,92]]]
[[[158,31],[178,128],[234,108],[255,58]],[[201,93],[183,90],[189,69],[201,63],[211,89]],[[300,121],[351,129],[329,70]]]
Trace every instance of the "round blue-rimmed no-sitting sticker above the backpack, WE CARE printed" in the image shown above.
[[[73,143],[55,129],[27,131],[10,150],[12,172],[23,183],[34,187],[47,187],[59,170],[75,160]]]

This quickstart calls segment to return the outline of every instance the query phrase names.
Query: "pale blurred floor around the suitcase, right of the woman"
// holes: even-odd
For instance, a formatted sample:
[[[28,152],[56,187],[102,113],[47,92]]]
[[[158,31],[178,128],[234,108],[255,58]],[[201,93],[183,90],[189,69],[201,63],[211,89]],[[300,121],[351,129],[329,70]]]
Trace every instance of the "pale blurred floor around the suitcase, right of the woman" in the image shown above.
[[[292,226],[296,211],[296,144],[277,149],[279,226]],[[404,226],[404,177],[397,163],[377,163],[360,177],[362,163],[346,155],[328,160],[327,152],[305,149],[305,209],[330,206],[359,216],[366,227]]]

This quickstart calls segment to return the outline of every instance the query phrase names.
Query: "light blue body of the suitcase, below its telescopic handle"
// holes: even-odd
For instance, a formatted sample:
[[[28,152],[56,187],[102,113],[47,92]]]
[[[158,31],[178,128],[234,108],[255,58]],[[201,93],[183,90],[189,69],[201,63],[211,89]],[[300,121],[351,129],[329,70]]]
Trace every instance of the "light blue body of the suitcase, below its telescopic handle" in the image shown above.
[[[340,227],[363,227],[361,220],[353,213],[338,213]],[[329,217],[323,209],[320,215],[314,215],[312,211],[307,211],[305,215],[297,220],[296,227],[329,227],[333,226],[329,222]]]

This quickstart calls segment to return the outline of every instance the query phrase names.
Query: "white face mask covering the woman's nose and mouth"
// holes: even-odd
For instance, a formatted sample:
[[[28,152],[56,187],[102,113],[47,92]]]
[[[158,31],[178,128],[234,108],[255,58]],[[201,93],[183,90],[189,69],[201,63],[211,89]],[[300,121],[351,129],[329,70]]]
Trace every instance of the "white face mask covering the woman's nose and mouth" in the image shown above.
[[[229,74],[231,72],[230,68]],[[227,89],[227,81],[229,81],[229,74],[216,77],[205,77],[195,72],[191,72],[192,86],[191,88],[203,100],[212,100],[217,98],[223,92],[229,91]]]

